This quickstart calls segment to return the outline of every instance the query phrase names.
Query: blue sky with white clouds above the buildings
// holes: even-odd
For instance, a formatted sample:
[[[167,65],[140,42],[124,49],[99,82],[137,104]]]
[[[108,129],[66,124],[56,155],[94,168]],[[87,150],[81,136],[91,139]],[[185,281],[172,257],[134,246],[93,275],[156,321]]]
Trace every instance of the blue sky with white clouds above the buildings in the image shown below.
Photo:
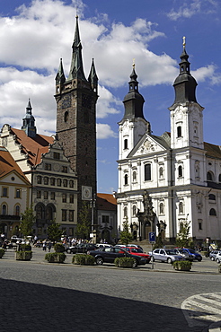
[[[94,58],[99,77],[98,192],[118,190],[118,122],[133,62],[153,134],[170,131],[183,36],[204,140],[221,145],[220,0],[0,0],[0,127],[21,128],[30,98],[38,133],[55,134],[55,76],[61,57],[69,73],[76,13],[84,74]]]

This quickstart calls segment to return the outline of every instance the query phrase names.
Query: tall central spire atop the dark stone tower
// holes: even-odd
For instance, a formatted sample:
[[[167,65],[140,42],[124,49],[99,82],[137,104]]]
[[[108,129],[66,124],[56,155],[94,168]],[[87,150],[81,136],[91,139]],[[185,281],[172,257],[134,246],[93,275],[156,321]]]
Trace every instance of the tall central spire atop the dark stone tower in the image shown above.
[[[73,80],[75,78],[80,78],[86,81],[84,76],[84,67],[82,60],[82,44],[80,39],[79,27],[78,27],[78,16],[76,15],[76,25],[75,25],[75,38],[72,45],[72,60],[70,72],[67,81]]]

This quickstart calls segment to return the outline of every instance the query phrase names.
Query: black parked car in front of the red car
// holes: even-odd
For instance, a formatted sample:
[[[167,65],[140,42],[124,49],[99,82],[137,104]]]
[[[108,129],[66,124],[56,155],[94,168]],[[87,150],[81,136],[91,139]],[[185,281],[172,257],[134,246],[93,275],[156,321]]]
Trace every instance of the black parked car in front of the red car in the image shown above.
[[[138,265],[145,265],[146,258],[142,258],[140,256],[132,255],[128,253],[125,249],[118,247],[109,247],[102,248],[88,252],[89,255],[92,255],[95,258],[97,265],[102,265],[103,263],[113,263],[115,258],[134,258],[133,267],[137,267]]]

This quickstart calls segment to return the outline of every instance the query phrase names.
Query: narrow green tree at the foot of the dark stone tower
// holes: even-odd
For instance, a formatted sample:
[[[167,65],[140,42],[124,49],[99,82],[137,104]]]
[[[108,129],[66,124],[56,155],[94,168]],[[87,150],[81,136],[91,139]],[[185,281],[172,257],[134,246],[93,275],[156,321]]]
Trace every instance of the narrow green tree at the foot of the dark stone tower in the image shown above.
[[[91,210],[87,202],[83,202],[76,225],[76,236],[81,239],[89,239],[91,232]]]

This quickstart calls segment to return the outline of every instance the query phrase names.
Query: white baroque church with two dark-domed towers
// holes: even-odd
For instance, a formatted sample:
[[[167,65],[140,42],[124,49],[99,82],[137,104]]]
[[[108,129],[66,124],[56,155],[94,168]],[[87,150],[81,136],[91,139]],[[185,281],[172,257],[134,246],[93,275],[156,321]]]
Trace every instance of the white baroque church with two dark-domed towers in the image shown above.
[[[118,227],[128,220],[134,240],[149,232],[173,242],[190,222],[196,242],[221,240],[221,147],[203,141],[203,107],[183,43],[180,74],[169,108],[171,133],[152,135],[133,66],[119,121]]]

